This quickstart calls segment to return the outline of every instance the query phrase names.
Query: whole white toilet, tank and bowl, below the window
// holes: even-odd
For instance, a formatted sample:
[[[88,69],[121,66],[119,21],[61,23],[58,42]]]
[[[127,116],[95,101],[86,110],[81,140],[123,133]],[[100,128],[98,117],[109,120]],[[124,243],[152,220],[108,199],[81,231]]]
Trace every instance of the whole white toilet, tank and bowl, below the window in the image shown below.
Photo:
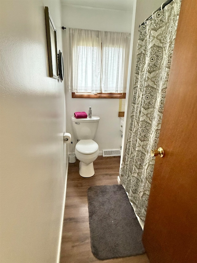
[[[98,144],[93,141],[98,129],[100,117],[92,116],[91,118],[76,119],[71,118],[74,135],[80,141],[75,146],[75,155],[80,161],[79,174],[82,177],[91,177],[94,175],[93,162],[98,157]]]

